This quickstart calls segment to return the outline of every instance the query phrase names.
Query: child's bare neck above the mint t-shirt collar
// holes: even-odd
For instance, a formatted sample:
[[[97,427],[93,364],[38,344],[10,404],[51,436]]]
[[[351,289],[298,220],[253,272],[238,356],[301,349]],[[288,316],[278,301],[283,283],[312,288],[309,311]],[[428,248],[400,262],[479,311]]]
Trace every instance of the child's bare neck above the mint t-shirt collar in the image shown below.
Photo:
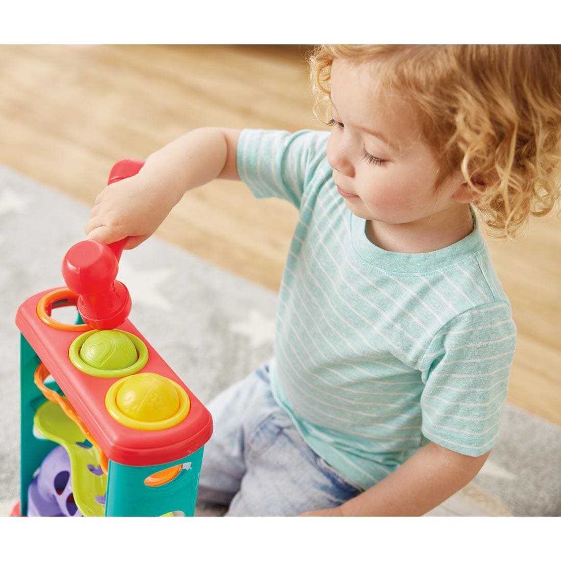
[[[407,224],[366,221],[366,237],[374,245],[398,253],[426,253],[448,247],[473,230],[471,210],[458,204]]]

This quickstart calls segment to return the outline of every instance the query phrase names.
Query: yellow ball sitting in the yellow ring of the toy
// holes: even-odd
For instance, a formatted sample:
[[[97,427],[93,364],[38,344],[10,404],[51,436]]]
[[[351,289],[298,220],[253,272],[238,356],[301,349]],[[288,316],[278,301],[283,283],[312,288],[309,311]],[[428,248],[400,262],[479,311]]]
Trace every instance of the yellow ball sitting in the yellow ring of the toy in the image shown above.
[[[163,421],[175,415],[180,407],[171,381],[150,372],[128,376],[115,401],[124,415],[137,421]]]

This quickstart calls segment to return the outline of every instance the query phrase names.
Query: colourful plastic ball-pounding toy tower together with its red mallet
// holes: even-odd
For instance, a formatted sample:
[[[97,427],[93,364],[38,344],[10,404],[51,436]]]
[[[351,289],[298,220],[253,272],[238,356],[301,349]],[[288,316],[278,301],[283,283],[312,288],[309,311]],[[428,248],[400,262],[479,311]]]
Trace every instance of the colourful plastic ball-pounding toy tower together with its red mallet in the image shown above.
[[[109,182],[141,165],[119,162]],[[130,297],[115,280],[125,241],[77,243],[63,262],[70,288],[40,292],[17,311],[22,516],[40,515],[46,499],[38,485],[50,472],[35,473],[57,445],[70,459],[72,499],[85,516],[195,512],[212,419],[127,319]],[[61,306],[76,306],[79,323],[53,319]]]

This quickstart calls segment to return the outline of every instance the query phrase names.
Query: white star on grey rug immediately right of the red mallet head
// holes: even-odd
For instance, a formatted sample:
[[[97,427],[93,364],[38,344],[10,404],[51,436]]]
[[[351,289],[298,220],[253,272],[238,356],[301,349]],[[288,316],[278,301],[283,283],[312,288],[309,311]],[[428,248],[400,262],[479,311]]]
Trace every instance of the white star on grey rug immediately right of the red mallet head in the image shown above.
[[[173,274],[172,269],[137,270],[127,261],[119,263],[117,280],[128,288],[132,305],[142,304],[163,311],[172,311],[173,305],[159,285]]]

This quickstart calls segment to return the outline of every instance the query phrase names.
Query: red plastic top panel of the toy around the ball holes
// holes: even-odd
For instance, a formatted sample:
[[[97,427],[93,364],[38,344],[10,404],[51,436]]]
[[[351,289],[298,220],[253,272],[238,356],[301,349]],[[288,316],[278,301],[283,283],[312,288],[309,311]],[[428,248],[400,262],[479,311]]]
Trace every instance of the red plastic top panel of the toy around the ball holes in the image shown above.
[[[210,413],[128,320],[118,329],[139,338],[148,350],[148,362],[140,371],[159,374],[178,384],[180,393],[181,388],[185,390],[190,407],[177,425],[162,430],[139,430],[115,420],[105,407],[105,397],[119,378],[86,374],[72,364],[71,345],[84,331],[50,327],[39,318],[38,303],[49,292],[36,294],[20,306],[17,327],[109,459],[129,466],[158,465],[188,456],[208,441],[213,430]],[[88,327],[84,329],[87,332]]]

